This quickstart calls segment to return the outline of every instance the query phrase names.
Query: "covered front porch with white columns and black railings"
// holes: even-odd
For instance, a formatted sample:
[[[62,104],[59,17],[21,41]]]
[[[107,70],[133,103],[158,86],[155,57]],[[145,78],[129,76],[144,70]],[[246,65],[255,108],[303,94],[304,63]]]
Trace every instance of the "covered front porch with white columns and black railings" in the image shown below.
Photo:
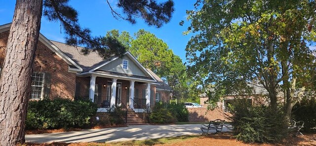
[[[98,112],[107,112],[112,106],[142,112],[139,109],[154,104],[155,92],[155,83],[140,79],[98,75],[77,76],[76,79],[76,97],[88,97],[98,106]]]

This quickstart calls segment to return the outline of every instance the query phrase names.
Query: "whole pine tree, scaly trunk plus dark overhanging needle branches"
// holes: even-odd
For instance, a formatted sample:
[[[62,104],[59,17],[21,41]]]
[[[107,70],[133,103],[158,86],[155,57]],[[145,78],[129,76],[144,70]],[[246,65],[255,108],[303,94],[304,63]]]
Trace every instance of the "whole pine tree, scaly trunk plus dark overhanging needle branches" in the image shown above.
[[[84,46],[84,53],[92,49],[106,58],[110,54],[124,52],[125,48],[116,39],[92,37],[89,29],[81,28],[78,12],[68,2],[16,0],[0,78],[0,143],[3,146],[25,142],[24,123],[42,14],[50,21],[59,21],[66,43]],[[142,18],[150,26],[161,27],[170,21],[174,11],[172,0],[160,3],[156,0],[118,0],[118,8],[123,13],[116,12],[107,2],[115,17],[133,24],[136,18]]]

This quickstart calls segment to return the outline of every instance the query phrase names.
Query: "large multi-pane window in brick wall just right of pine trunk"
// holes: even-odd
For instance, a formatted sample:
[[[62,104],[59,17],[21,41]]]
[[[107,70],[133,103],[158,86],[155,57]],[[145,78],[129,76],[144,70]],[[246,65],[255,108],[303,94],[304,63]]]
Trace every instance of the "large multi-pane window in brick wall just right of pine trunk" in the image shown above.
[[[44,87],[44,73],[33,72],[30,99],[39,100],[42,97]]]

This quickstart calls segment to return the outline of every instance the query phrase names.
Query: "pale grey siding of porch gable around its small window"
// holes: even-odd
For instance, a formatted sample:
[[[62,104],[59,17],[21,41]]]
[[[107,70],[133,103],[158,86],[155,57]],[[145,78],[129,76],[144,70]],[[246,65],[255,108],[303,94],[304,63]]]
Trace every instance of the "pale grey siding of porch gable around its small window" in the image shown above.
[[[127,70],[123,69],[123,59],[128,60]],[[104,65],[99,68],[99,70],[146,76],[145,73],[126,55]]]

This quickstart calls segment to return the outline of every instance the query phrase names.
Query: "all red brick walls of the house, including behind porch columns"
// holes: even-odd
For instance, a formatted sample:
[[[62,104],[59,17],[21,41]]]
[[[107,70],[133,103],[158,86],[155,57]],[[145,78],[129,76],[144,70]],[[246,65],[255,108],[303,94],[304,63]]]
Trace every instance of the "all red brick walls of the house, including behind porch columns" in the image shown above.
[[[2,65],[5,57],[5,49],[9,32],[0,33],[0,64]],[[88,96],[90,85],[90,77],[79,77],[76,73],[68,72],[69,65],[47,46],[39,41],[37,50],[35,52],[35,61],[33,65],[34,72],[49,73],[50,78],[50,92],[49,98],[54,99],[57,97],[74,99],[75,92],[80,96]],[[110,78],[96,77],[96,84],[99,85],[101,96],[107,96],[107,84],[112,81]],[[117,80],[122,83],[122,103],[126,104],[129,99],[127,90],[130,86],[128,80]],[[104,86],[105,85],[105,86]],[[76,87],[77,86],[77,87]],[[79,87],[78,87],[79,86]],[[127,87],[128,89],[125,89]],[[77,90],[79,91],[76,91]],[[147,89],[146,83],[135,82],[135,89],[138,90],[139,98],[143,97],[143,89]],[[154,92],[154,103],[156,99],[156,86],[151,85],[151,90]],[[170,100],[170,92],[157,91],[160,94],[160,100],[168,102]]]

